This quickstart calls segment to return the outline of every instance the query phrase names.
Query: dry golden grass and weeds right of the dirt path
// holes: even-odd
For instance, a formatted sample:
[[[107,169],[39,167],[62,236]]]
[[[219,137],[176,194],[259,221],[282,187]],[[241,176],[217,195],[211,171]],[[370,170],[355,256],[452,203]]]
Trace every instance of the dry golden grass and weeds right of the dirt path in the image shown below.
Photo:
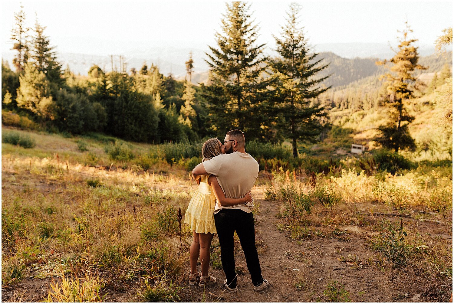
[[[404,175],[366,176],[343,170],[339,177],[274,174],[266,196],[281,202],[278,229],[294,240],[350,234],[366,241],[380,258],[368,262],[391,271],[404,289],[434,300],[452,292],[452,175],[444,168],[418,168]],[[307,204],[309,199],[310,204]],[[331,203],[328,203],[331,202]],[[434,235],[438,235],[435,236]],[[350,263],[351,264],[351,263]],[[351,264],[352,265],[352,264]],[[362,267],[362,266],[361,266]],[[394,271],[393,271],[394,270]],[[401,275],[411,273],[413,276]],[[295,284],[303,288],[299,280]],[[410,289],[409,289],[410,292]]]

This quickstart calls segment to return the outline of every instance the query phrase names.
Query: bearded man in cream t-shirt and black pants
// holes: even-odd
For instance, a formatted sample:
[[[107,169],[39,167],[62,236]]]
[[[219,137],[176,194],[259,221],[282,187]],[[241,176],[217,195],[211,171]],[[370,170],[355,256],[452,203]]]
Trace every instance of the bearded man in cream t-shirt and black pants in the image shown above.
[[[197,181],[202,175],[215,175],[225,196],[241,198],[254,186],[259,166],[257,161],[245,151],[245,139],[240,130],[227,132],[224,139],[227,154],[221,154],[198,164],[192,170],[192,177]],[[231,292],[238,291],[237,275],[235,274],[235,258],[233,257],[233,233],[237,231],[246,258],[247,269],[251,274],[254,291],[269,286],[262,277],[255,245],[254,202],[235,206],[222,206],[217,202],[214,208],[219,244],[221,245],[222,268],[226,275],[224,286]]]

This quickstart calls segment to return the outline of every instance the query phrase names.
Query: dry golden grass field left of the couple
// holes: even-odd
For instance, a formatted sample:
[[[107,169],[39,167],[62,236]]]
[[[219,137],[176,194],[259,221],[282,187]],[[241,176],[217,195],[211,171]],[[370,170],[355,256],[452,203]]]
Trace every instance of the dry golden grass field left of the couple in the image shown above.
[[[195,189],[187,172],[164,163],[157,170],[166,174],[89,167],[73,139],[27,133],[35,149],[2,145],[3,286],[24,274],[89,271],[104,277],[105,289],[144,279],[164,286],[186,275],[188,245],[180,248],[178,231],[159,221],[174,215],[168,206],[184,214]]]

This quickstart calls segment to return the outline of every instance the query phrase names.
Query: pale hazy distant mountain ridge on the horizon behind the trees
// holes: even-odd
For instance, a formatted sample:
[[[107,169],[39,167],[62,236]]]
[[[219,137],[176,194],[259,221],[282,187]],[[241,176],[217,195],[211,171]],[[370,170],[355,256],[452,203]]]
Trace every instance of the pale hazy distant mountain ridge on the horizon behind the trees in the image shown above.
[[[194,60],[194,72],[192,74],[193,83],[203,83],[208,78],[208,65],[205,62],[207,55],[202,49],[178,48],[170,46],[152,46],[144,49],[134,45],[134,49],[123,52],[125,62],[127,62],[127,71],[131,68],[140,69],[144,62],[150,66],[152,63],[159,66],[161,73],[167,75],[172,73],[175,78],[183,79],[186,74],[185,62],[189,58],[189,52],[192,51],[192,59]],[[330,51],[321,51],[329,49]],[[386,49],[388,50],[385,53]],[[431,47],[432,53],[430,56],[424,56],[429,53],[428,46],[421,46],[419,52],[421,55],[420,63],[428,65],[430,70],[426,72],[434,72],[440,70],[443,63],[441,59],[437,59],[433,54],[434,48]],[[349,83],[362,78],[370,77],[383,72],[383,67],[375,65],[375,61],[393,56],[388,44],[384,43],[346,43],[346,44],[319,44],[315,46],[315,50],[320,52],[317,59],[323,58],[323,63],[330,63],[330,66],[322,71],[319,76],[331,74],[323,84],[326,86],[345,86]],[[269,47],[267,52],[269,52]],[[338,53],[337,53],[338,52]],[[11,63],[14,57],[13,51],[2,52],[2,58]],[[372,56],[377,55],[377,56]],[[58,60],[65,68],[69,68],[75,74],[86,75],[93,64],[99,65],[105,71],[110,71],[112,65],[114,69],[119,68],[118,56],[111,57],[108,55],[92,55],[92,54],[76,54],[61,52],[57,53]],[[452,57],[450,59],[452,63]],[[434,64],[436,69],[434,69]]]

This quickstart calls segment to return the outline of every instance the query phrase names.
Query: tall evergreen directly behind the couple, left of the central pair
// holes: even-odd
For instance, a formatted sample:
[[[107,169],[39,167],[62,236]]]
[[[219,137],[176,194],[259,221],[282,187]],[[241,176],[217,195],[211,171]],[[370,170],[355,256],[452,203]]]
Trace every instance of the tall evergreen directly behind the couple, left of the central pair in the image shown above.
[[[202,84],[217,133],[241,129],[247,138],[272,140],[268,106],[265,44],[256,44],[257,25],[252,24],[244,2],[227,3],[222,20],[223,34],[216,33],[218,48],[209,47],[208,84]]]

